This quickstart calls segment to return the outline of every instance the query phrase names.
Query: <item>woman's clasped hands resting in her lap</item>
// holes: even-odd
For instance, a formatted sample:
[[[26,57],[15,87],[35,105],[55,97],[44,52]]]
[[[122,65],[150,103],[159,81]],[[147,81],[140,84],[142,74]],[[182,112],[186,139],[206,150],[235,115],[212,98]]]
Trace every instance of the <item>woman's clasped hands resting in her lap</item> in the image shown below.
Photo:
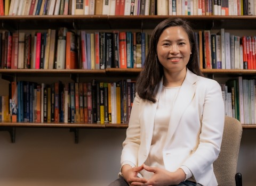
[[[154,173],[153,176],[148,180],[145,178],[137,177],[138,173],[143,169]],[[175,172],[170,172],[163,168],[149,167],[145,164],[133,168],[131,168],[130,165],[124,165],[122,167],[122,174],[129,185],[140,186],[177,185],[186,178],[186,174],[181,168],[178,168],[178,170]]]

